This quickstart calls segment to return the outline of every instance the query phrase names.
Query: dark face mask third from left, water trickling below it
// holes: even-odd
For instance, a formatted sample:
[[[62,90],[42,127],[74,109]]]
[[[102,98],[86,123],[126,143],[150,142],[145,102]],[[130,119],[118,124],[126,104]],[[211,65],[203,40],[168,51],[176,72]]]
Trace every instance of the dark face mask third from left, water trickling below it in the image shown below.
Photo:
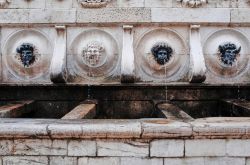
[[[173,55],[173,49],[165,43],[157,43],[152,49],[155,61],[160,65],[165,65]]]

